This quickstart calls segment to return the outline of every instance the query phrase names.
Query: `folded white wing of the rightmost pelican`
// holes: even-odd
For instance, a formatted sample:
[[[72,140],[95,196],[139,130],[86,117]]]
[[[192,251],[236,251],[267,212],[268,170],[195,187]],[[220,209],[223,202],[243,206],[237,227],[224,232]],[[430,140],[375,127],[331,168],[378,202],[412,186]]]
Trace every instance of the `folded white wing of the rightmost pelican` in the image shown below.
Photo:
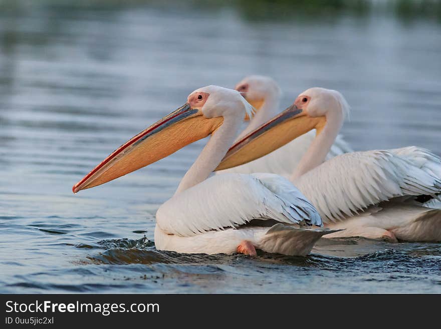
[[[335,222],[399,196],[436,197],[441,192],[441,159],[417,147],[346,153],[294,183],[325,222]]]

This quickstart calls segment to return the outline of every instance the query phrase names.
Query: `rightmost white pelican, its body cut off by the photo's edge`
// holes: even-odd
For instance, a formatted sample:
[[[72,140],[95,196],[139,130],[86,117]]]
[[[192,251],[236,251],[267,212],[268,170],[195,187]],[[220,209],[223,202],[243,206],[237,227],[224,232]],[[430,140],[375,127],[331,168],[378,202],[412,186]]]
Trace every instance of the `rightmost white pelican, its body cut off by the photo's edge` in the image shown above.
[[[325,227],[345,229],[326,237],[440,241],[441,209],[422,203],[439,199],[441,158],[410,146],[346,153],[324,162],[348,111],[339,92],[308,89],[287,110],[233,145],[217,169],[263,156],[315,128],[317,136],[290,181],[317,208]]]

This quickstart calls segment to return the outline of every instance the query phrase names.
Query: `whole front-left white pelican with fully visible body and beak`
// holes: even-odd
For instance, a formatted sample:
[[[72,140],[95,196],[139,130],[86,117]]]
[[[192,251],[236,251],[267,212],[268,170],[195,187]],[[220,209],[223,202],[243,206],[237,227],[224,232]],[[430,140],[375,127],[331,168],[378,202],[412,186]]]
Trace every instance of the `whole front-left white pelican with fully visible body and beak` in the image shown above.
[[[256,248],[306,255],[324,234],[315,208],[289,180],[275,174],[225,174],[207,178],[252,108],[235,90],[208,86],[187,103],[134,136],[73,187],[103,184],[156,162],[211,134],[176,193],[156,213],[155,245],[183,253],[256,254]],[[271,151],[271,150],[268,150]]]

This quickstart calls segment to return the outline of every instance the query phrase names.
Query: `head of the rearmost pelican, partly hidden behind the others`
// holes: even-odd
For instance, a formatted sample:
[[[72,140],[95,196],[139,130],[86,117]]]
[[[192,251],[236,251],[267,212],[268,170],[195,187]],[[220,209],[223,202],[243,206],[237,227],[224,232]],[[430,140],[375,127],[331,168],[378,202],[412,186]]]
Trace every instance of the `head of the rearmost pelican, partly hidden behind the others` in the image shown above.
[[[274,79],[265,76],[248,76],[239,82],[235,89],[244,96],[257,111],[267,100],[279,99],[282,91]],[[246,120],[250,118],[246,118]]]

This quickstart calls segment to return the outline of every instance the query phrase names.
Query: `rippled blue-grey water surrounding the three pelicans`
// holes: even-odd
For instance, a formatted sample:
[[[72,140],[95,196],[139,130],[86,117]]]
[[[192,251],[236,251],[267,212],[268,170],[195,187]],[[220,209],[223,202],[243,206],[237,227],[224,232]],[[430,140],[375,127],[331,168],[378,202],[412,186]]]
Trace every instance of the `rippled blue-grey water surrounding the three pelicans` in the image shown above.
[[[203,141],[72,185],[194,89],[337,89],[357,150],[441,154],[438,1],[0,1],[0,292],[441,292],[441,244],[343,239],[311,256],[155,250],[154,214]]]

